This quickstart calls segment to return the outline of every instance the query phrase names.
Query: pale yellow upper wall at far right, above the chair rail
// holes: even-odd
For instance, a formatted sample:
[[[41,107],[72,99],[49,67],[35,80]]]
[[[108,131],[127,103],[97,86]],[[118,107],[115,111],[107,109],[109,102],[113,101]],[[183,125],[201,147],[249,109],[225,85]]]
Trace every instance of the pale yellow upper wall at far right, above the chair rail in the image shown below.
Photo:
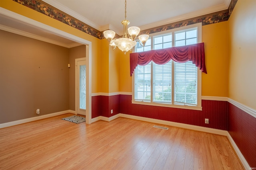
[[[256,0],[238,0],[228,33],[228,97],[256,109]]]

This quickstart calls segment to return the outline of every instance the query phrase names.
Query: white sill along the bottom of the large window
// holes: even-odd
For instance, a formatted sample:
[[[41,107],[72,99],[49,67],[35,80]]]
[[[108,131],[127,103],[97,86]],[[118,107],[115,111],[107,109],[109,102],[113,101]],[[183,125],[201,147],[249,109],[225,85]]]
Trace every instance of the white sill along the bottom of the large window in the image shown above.
[[[161,107],[172,107],[172,108],[179,108],[179,109],[190,109],[190,110],[200,110],[202,111],[201,106],[187,106],[187,105],[174,105],[174,104],[162,104],[162,103],[151,103],[151,102],[140,102],[132,100],[132,104],[142,104],[148,106],[161,106]]]

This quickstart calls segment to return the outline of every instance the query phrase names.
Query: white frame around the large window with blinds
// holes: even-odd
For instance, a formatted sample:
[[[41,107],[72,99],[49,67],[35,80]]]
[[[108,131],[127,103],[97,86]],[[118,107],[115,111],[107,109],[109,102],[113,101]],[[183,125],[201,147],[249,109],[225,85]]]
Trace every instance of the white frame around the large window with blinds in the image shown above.
[[[151,37],[151,49],[153,48],[153,37],[157,36],[157,35],[164,35],[164,34],[168,34],[168,33],[172,33],[172,43],[174,44],[174,33],[177,31],[182,31],[182,30],[186,30],[186,29],[192,29],[197,27],[197,43],[201,43],[202,42],[202,23],[196,23],[196,24],[192,24],[192,25],[187,25],[184,27],[179,27],[179,28],[175,28],[175,29],[170,29],[170,30],[166,30],[166,31],[161,31],[158,33],[153,33],[150,34],[149,36]],[[192,110],[202,110],[202,71],[197,68],[197,77],[198,77],[198,90],[197,90],[197,101],[198,104],[197,106],[188,106],[188,105],[176,105],[174,104],[174,101],[172,101],[172,104],[166,104],[166,103],[156,103],[156,102],[144,102],[144,101],[137,101],[134,100],[134,75],[132,75],[132,104],[142,104],[142,105],[149,105],[149,106],[162,106],[162,107],[173,107],[173,108],[180,108],[180,109],[192,109]],[[152,74],[152,72],[151,72]],[[152,78],[152,75],[151,75]],[[172,86],[173,87],[173,86]],[[174,88],[172,88],[172,90],[174,90]],[[151,92],[151,96],[152,96],[152,92]]]

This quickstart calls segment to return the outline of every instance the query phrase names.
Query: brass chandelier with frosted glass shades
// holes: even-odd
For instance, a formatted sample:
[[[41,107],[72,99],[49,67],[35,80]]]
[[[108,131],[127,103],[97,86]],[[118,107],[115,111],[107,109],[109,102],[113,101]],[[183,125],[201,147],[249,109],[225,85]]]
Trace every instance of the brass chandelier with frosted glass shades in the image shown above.
[[[113,50],[116,49],[116,46],[121,50],[124,51],[124,54],[126,54],[127,51],[132,51],[132,48],[136,45],[136,37],[140,33],[139,27],[129,27],[127,29],[128,24],[130,21],[126,20],[126,0],[124,3],[124,20],[121,22],[123,25],[123,37],[118,39],[113,39],[116,35],[114,31],[106,30],[104,31],[104,37],[108,40],[108,43],[112,47]],[[143,34],[139,36],[138,41],[140,45],[144,46],[146,41],[148,40],[148,35]]]

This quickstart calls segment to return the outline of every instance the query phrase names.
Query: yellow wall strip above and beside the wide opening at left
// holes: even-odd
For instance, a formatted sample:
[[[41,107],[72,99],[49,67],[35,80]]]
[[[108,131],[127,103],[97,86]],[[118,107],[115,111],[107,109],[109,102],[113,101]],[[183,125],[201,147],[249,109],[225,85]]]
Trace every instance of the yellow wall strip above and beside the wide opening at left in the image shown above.
[[[101,42],[100,39],[93,37],[87,33],[84,33],[74,27],[66,25],[58,20],[50,18],[40,12],[32,10],[24,5],[18,4],[12,0],[1,0],[0,6],[17,14],[21,14],[22,16],[26,16],[33,20],[39,21],[56,29],[60,29],[77,37],[86,39],[92,42],[92,93],[97,93],[101,91],[100,87],[100,56],[101,56]]]

